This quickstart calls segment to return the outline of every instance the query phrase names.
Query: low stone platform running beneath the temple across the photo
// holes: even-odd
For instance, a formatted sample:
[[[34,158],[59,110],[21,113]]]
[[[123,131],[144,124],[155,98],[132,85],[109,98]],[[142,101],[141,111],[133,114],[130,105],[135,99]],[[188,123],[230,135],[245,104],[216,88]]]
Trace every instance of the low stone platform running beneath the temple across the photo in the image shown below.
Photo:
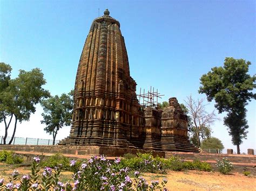
[[[152,152],[154,156],[159,155],[163,158],[170,158],[172,155],[177,155],[188,161],[198,159],[206,161],[216,169],[216,159],[221,160],[224,157],[228,158],[234,165],[234,172],[242,173],[244,169],[256,175],[256,155],[250,154],[213,154],[213,153],[195,153],[195,152],[169,152],[169,151],[152,151],[152,150],[138,150],[132,148],[117,148],[117,147],[103,147],[103,146],[48,146],[48,145],[0,145],[0,150],[10,150],[18,154],[24,155],[28,159],[32,159],[35,155],[52,155],[55,153],[62,153],[66,157],[73,159],[89,159],[91,155],[105,155],[108,159],[115,157],[123,157],[125,153],[137,152],[148,153]]]

